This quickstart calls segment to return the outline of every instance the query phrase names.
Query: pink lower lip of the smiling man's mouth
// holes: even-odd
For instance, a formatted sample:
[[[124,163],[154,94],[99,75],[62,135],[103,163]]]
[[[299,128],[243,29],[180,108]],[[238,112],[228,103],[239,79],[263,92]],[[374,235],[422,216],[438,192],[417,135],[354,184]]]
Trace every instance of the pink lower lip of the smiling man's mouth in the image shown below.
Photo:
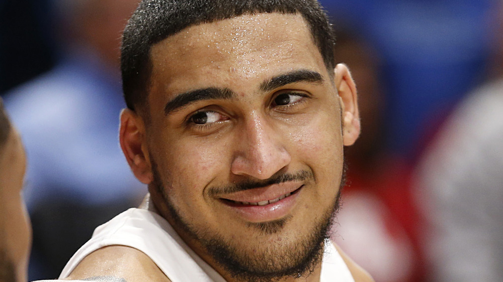
[[[302,188],[303,186],[294,191],[292,195],[265,206],[241,205],[223,200],[222,202],[246,221],[266,222],[281,219],[290,214]]]

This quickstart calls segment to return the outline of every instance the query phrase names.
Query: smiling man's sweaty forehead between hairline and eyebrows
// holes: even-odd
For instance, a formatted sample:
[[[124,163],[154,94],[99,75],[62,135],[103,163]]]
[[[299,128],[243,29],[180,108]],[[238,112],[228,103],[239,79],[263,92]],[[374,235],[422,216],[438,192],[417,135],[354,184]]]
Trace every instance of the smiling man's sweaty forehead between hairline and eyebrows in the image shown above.
[[[297,14],[242,15],[192,26],[154,45],[150,59],[151,93],[240,88],[243,81],[256,85],[295,69],[326,74],[309,28]]]

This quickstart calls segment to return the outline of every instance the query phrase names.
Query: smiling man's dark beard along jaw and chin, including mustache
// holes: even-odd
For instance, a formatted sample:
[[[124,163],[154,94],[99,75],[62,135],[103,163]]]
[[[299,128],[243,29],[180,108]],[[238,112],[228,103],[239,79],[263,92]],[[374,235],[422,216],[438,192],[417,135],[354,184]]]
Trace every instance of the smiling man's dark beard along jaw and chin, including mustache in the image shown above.
[[[181,230],[187,236],[197,241],[206,252],[222,266],[234,279],[239,281],[277,281],[286,277],[299,278],[308,276],[322,259],[325,243],[329,240],[329,230],[339,208],[342,188],[346,182],[346,163],[339,191],[333,204],[325,212],[317,217],[314,228],[304,238],[299,240],[275,240],[269,247],[264,248],[262,240],[250,240],[248,247],[238,247],[236,242],[223,238],[209,228],[198,228],[185,220],[181,212],[170,199],[167,190],[160,179],[157,166],[152,160],[153,181],[151,185],[162,195],[169,216],[174,227]],[[297,174],[275,175],[266,181],[247,181],[240,184],[230,185],[224,188],[216,188],[214,191],[241,191],[264,187],[274,183],[313,178],[312,172],[301,171]],[[211,189],[210,189],[211,193]],[[247,227],[259,230],[261,235],[272,235],[283,230],[291,216],[261,223],[248,223]],[[178,231],[177,231],[178,232]],[[180,232],[179,232],[180,234]],[[181,237],[183,238],[184,236]],[[251,238],[252,236],[250,236]],[[185,240],[185,239],[184,239]]]

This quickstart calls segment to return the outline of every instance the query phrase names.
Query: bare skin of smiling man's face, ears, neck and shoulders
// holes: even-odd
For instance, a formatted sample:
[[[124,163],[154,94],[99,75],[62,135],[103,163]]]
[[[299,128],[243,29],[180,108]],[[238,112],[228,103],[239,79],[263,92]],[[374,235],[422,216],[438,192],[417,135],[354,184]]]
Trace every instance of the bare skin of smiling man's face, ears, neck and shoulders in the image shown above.
[[[352,145],[360,132],[355,84],[345,65],[326,69],[305,22],[297,15],[244,15],[189,27],[154,45],[150,56],[149,108],[140,110],[141,114],[122,112],[121,148],[135,176],[149,184],[159,213],[226,280],[236,281],[180,226],[165,197],[191,228],[217,234],[246,253],[274,249],[280,254],[284,249],[275,246],[296,246],[330,211],[339,192],[343,146]],[[275,77],[305,70],[319,74],[320,79],[261,87]],[[197,100],[166,113],[166,104],[175,97],[209,87],[232,93],[230,98]],[[282,94],[290,99],[286,105],[277,103]],[[209,123],[194,122],[200,111],[206,112]],[[163,191],[152,184],[154,163]],[[312,172],[313,178],[238,195],[211,193],[234,183],[261,182],[300,171]],[[274,199],[292,189],[298,190],[289,204],[279,206],[279,213],[266,208],[243,214],[223,200]],[[278,219],[286,219],[285,224],[272,234],[250,226]],[[126,262],[128,267],[123,267],[109,258],[121,255],[137,256],[141,263]],[[103,275],[112,269],[117,277],[139,281],[131,271],[145,267],[155,271],[148,261],[137,250],[111,246],[85,258],[69,278]],[[347,261],[355,277],[367,277]],[[309,276],[299,280],[318,281],[320,270],[318,263]]]

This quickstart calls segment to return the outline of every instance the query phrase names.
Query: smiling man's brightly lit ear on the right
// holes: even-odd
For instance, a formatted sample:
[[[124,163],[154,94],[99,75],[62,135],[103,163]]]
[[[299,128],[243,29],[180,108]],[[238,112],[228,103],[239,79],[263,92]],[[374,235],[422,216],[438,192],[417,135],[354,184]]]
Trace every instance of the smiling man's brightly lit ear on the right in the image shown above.
[[[336,66],[334,82],[341,102],[344,146],[351,146],[360,135],[360,115],[355,81],[346,65]]]

